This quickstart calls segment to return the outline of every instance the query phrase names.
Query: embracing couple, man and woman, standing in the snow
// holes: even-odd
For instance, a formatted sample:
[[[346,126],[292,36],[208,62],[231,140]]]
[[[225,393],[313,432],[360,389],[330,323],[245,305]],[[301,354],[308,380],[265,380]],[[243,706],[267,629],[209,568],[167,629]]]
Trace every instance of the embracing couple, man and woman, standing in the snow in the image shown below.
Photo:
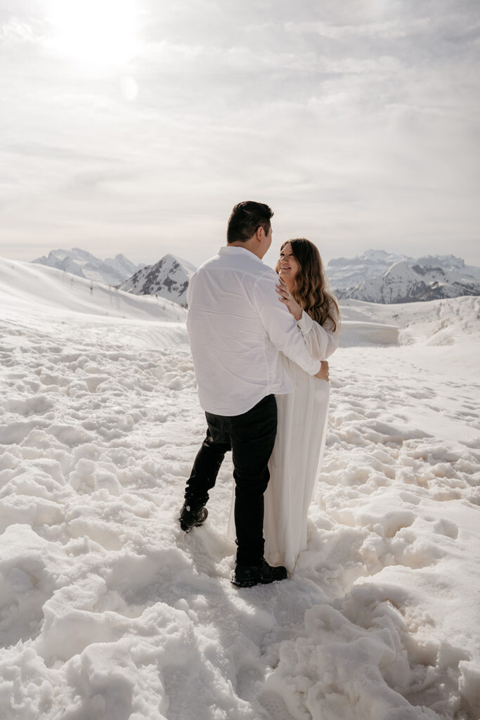
[[[307,545],[307,510],[325,445],[328,356],[340,314],[309,240],[281,246],[276,272],[268,205],[240,202],[227,246],[191,277],[187,330],[207,436],[186,484],[180,524],[201,526],[232,451],[241,588],[284,580]],[[265,536],[265,539],[264,539]]]

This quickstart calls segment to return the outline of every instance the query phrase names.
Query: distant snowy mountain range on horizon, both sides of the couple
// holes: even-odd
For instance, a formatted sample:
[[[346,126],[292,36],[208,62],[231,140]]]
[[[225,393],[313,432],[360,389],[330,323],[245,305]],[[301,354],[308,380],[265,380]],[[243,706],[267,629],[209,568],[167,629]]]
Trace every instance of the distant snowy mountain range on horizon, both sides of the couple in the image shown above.
[[[80,248],[53,250],[35,263],[48,265],[136,295],[157,295],[186,307],[186,289],[196,268],[168,253],[153,265],[135,265],[124,255],[100,260]],[[368,250],[335,258],[327,266],[338,298],[396,303],[480,295],[480,268],[453,255],[422,256]]]

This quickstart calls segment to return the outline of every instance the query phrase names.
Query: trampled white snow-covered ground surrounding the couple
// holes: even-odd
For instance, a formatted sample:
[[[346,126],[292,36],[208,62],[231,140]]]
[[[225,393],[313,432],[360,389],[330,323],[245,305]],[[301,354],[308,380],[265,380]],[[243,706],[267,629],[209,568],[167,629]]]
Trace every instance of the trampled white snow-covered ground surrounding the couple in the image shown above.
[[[184,311],[0,261],[1,720],[478,720],[479,310],[343,306],[307,551],[238,590]]]

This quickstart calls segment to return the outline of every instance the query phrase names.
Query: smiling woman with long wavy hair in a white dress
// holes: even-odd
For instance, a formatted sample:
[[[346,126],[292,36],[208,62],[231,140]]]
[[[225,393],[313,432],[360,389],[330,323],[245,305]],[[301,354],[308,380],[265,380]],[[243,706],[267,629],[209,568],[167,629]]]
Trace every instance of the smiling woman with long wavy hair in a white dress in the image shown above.
[[[297,238],[281,246],[279,300],[289,308],[310,353],[319,360],[338,347],[340,312],[328,292],[318,248]],[[325,447],[330,384],[282,356],[294,391],[277,395],[279,426],[265,493],[265,557],[291,572],[307,546],[307,513]]]

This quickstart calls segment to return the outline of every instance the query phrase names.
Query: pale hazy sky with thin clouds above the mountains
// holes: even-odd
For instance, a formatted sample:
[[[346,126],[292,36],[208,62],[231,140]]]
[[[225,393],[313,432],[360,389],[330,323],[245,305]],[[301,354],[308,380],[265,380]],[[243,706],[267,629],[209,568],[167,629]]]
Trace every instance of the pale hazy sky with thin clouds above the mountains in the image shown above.
[[[480,266],[479,36],[477,0],[0,0],[0,256],[198,265],[256,199],[271,262]]]

